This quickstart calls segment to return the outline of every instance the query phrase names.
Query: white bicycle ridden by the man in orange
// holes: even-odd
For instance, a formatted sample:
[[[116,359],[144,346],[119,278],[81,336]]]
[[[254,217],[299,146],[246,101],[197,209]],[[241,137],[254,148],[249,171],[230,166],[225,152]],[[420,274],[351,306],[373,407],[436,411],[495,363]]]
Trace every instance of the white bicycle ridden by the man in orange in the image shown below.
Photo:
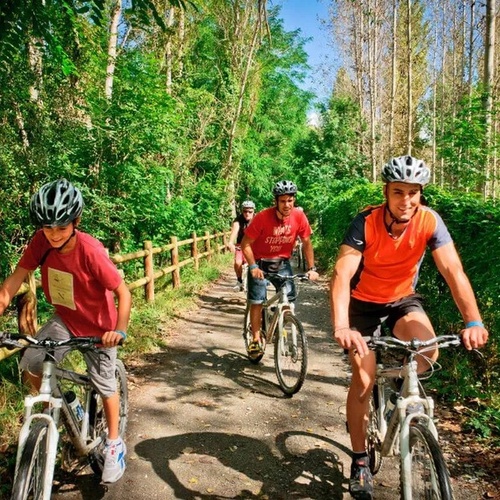
[[[382,459],[400,456],[400,493],[404,500],[452,500],[453,491],[446,461],[434,424],[434,400],[425,394],[420,380],[439,369],[425,357],[436,347],[461,344],[458,335],[442,335],[430,340],[402,341],[394,337],[365,337],[376,351],[377,373],[370,399],[367,446],[370,469],[376,474]],[[402,366],[384,365],[381,353],[399,350],[405,356]],[[417,356],[432,367],[429,373],[417,373]],[[397,383],[402,385],[396,390]],[[399,431],[399,432],[398,432]]]

